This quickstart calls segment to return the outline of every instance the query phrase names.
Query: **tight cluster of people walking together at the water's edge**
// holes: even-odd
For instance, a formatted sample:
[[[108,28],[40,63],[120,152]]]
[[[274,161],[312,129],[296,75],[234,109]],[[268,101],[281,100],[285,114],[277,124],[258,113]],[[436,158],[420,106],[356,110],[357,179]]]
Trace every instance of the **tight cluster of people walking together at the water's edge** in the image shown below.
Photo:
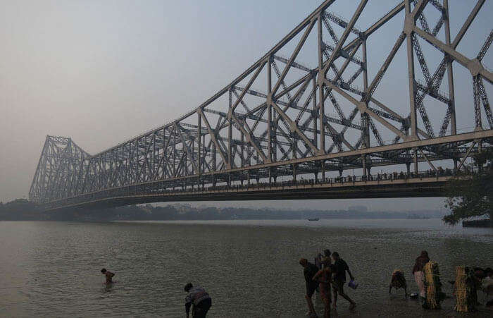
[[[332,258],[332,259],[331,259]],[[332,264],[332,260],[334,263]],[[333,307],[337,307],[337,295],[349,301],[349,309],[356,306],[356,302],[344,293],[344,283],[346,283],[346,272],[349,274],[351,283],[354,285],[354,276],[349,270],[349,266],[338,252],[330,253],[324,250],[323,255],[317,255],[315,263],[308,262],[308,259],[301,258],[299,264],[304,268],[303,274],[306,281],[306,303],[308,305],[307,316],[316,317],[316,312],[311,300],[315,291],[319,291],[320,298],[324,303],[324,317],[330,317],[330,304],[332,303],[332,293],[334,293]]]

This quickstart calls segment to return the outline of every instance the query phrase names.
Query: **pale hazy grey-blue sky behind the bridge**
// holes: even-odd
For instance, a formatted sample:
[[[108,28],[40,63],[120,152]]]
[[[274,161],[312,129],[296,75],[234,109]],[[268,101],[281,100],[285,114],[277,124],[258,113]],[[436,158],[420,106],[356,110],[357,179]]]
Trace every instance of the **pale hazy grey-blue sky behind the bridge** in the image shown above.
[[[227,85],[321,2],[0,0],[0,200],[27,197],[47,134],[72,137],[94,154],[161,126]],[[330,9],[349,20],[358,2],[339,0]],[[369,2],[357,23],[362,30],[399,1]],[[457,21],[451,25],[454,38],[475,1],[449,2],[451,17]],[[458,51],[468,57],[477,54],[479,47],[468,44],[484,42],[492,29],[492,16],[493,6],[487,1]],[[401,21],[397,18],[383,30],[381,43],[368,53],[370,74],[380,68],[382,54],[397,39]],[[405,58],[404,54],[405,44],[397,56]],[[432,62],[440,59],[437,54]],[[484,63],[493,68],[491,53]],[[406,101],[407,86],[392,77],[404,75],[405,84],[406,72],[404,63],[392,64],[389,78],[381,84],[391,87],[379,96],[390,103],[398,103],[401,96]],[[470,86],[470,73],[456,72],[456,80]],[[487,90],[491,92],[491,87]],[[461,93],[460,85],[456,91]],[[457,99],[472,102],[469,92]],[[471,121],[473,125],[473,118],[466,118],[462,128]],[[419,209],[440,207],[442,201],[220,205],[332,209],[367,204],[370,209]]]

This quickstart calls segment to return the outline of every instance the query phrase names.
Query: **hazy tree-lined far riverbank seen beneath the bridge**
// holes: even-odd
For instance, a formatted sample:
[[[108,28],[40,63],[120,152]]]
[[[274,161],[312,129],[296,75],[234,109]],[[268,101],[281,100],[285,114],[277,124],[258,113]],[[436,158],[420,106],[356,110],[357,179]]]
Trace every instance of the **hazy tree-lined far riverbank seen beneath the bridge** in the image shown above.
[[[408,212],[368,211],[356,206],[338,210],[281,210],[244,207],[192,207],[188,204],[166,206],[130,205],[107,209],[61,209],[44,212],[27,200],[0,204],[1,221],[200,221],[200,220],[303,220],[303,219],[430,219],[442,218],[439,210]],[[316,224],[316,221],[313,221]]]

